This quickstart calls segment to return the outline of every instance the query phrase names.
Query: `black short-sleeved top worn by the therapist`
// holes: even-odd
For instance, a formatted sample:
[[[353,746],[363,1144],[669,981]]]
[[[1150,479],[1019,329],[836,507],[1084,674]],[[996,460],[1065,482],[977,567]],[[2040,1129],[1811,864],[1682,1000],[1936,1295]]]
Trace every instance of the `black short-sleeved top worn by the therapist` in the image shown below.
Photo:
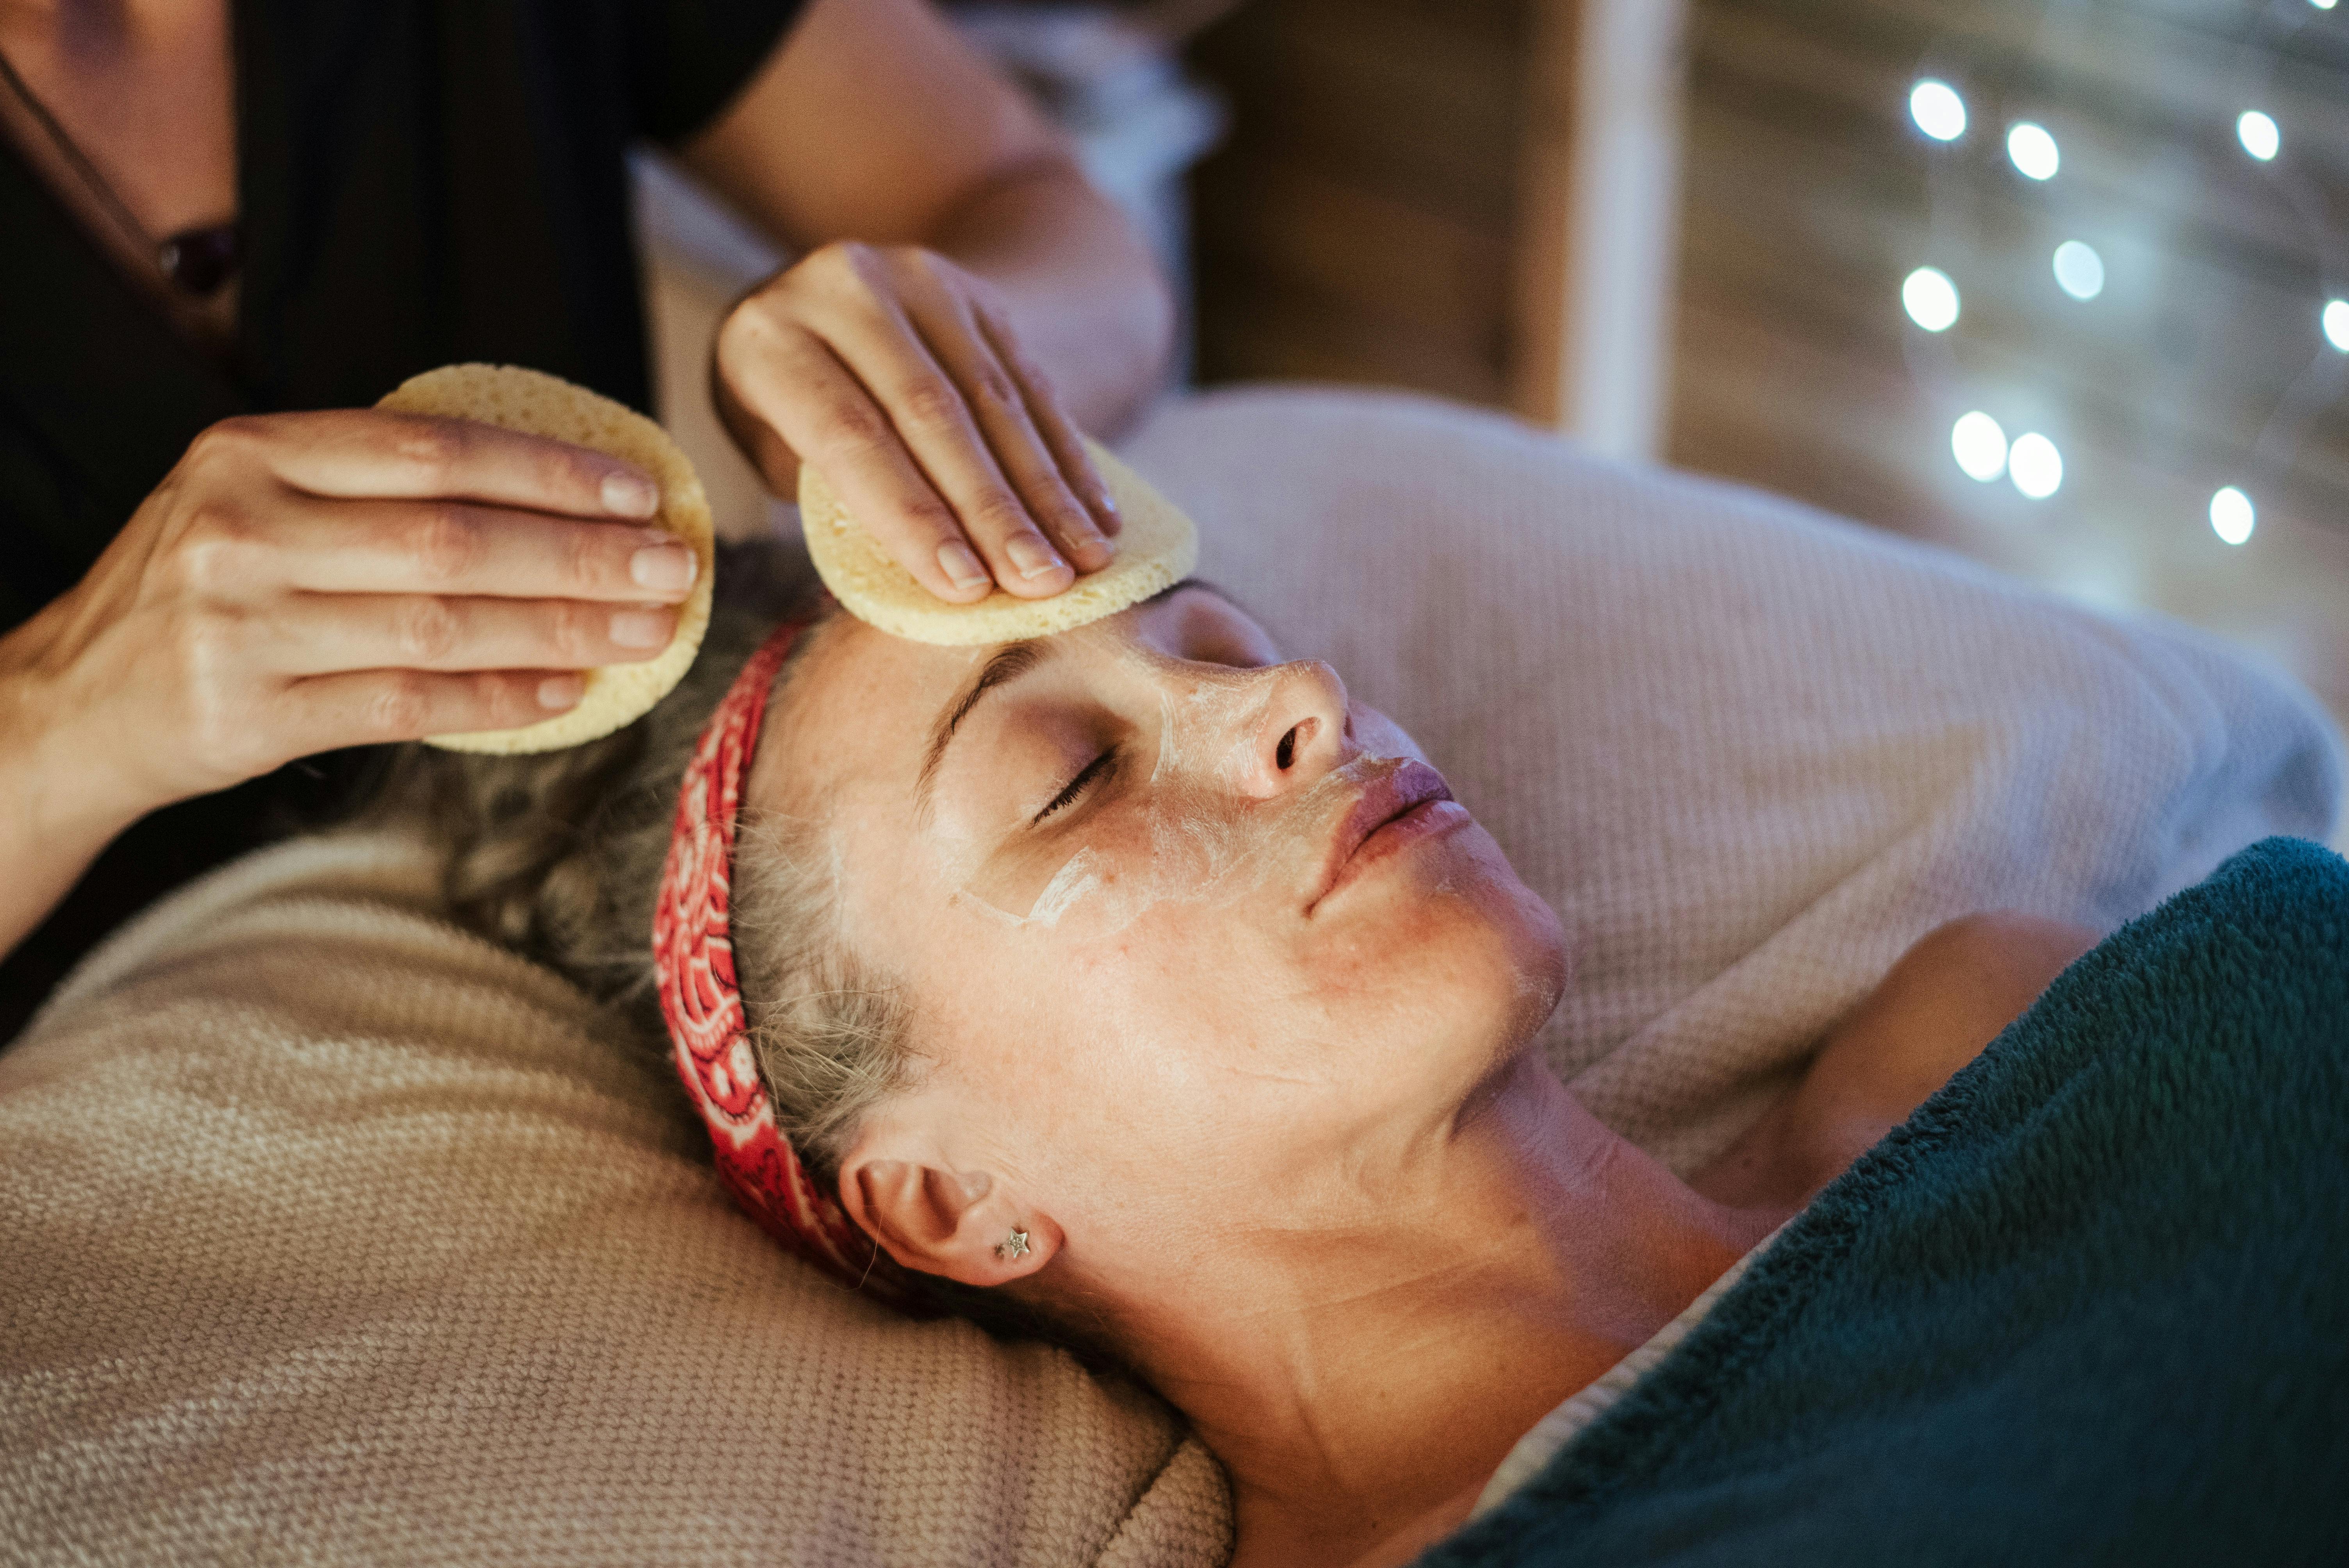
[[[235,0],[228,364],[0,136],[0,631],[66,592],[200,430],[373,404],[460,359],[648,408],[632,141],[691,136],[799,0]],[[0,965],[0,1042],[157,892],[329,807],[352,758],[132,829]]]

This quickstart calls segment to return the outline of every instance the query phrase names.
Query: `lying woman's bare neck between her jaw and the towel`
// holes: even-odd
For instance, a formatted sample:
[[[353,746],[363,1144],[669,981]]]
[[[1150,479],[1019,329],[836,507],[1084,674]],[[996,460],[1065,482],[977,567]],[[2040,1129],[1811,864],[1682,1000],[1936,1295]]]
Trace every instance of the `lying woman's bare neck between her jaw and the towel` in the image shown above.
[[[1238,1237],[1120,1312],[1231,1474],[1238,1566],[1407,1561],[1510,1446],[1766,1230],[1607,1131],[1532,1052],[1372,1223]]]

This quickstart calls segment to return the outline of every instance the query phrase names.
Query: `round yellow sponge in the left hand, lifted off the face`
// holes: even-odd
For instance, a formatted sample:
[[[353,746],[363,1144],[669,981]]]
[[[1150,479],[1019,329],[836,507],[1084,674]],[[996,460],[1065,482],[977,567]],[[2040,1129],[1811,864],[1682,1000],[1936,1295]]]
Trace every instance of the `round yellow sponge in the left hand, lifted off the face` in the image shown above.
[[[660,509],[651,526],[665,528],[693,547],[702,570],[693,580],[693,596],[677,606],[677,636],[658,660],[644,664],[604,664],[585,671],[587,692],[578,707],[554,718],[543,718],[519,730],[479,730],[474,735],[432,735],[435,746],[449,751],[491,751],[519,756],[524,751],[559,751],[580,742],[611,735],[625,723],[641,718],[655,702],[669,695],[709,629],[709,587],[716,577],[716,530],[709,519],[709,500],[702,495],[700,474],[677,441],[653,420],[625,404],[615,404],[599,392],[576,387],[561,376],[524,371],[512,364],[446,364],[423,376],[411,376],[385,397],[378,408],[395,413],[437,413],[458,420],[482,420],[500,430],[519,430],[531,437],[592,446],[599,453],[634,462],[660,486]]]

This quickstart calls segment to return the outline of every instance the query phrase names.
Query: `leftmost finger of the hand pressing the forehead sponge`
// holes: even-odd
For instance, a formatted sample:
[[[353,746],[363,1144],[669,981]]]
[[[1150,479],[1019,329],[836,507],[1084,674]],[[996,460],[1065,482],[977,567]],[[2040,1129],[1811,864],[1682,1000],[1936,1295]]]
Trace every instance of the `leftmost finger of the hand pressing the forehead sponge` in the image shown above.
[[[796,460],[822,469],[841,505],[916,582],[949,603],[987,596],[994,580],[954,507],[822,338],[794,322],[763,319],[752,331],[731,322],[721,373],[742,408]]]

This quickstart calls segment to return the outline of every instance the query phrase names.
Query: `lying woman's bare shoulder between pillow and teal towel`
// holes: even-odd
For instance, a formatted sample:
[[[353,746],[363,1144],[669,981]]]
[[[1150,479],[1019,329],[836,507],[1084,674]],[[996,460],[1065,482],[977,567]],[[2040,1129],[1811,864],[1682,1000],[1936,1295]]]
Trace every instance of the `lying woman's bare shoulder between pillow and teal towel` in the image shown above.
[[[2095,944],[2084,925],[2015,911],[1926,932],[1828,1030],[1795,1089],[1694,1185],[1722,1202],[1802,1207]]]

